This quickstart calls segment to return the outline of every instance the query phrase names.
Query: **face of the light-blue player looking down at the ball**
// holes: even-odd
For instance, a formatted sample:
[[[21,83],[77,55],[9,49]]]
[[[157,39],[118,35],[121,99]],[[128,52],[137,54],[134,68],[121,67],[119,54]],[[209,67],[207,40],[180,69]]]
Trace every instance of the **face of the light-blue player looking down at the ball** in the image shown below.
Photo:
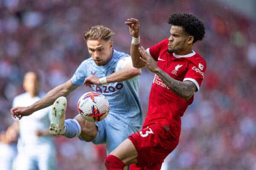
[[[113,54],[113,42],[111,40],[87,40],[89,54],[96,65],[105,65]]]

